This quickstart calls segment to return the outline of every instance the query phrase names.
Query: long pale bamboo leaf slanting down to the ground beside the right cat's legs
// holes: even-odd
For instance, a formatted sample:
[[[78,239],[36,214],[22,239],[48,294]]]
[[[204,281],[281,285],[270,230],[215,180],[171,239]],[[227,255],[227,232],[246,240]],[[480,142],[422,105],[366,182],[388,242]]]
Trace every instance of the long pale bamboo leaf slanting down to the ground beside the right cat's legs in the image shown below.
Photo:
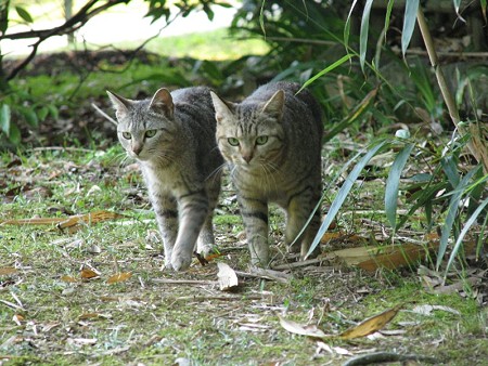
[[[362,158],[359,160],[359,162],[355,166],[352,171],[349,173],[349,175],[346,178],[345,182],[343,183],[343,186],[337,193],[337,196],[335,197],[334,201],[331,205],[331,208],[329,209],[329,212],[320,225],[319,232],[317,233],[313,243],[310,246],[310,249],[308,250],[307,256],[305,256],[305,259],[307,259],[308,256],[310,256],[313,252],[313,249],[319,245],[320,238],[325,234],[329,226],[331,225],[332,221],[334,220],[335,215],[337,214],[338,210],[343,206],[344,201],[346,200],[347,195],[349,194],[350,189],[352,188],[352,185],[355,184],[356,180],[358,179],[359,173],[362,171],[364,166],[368,164],[368,161],[371,160],[371,158],[376,155],[376,153],[386,144],[386,141],[382,141],[381,143],[376,144],[373,148],[371,148]]]

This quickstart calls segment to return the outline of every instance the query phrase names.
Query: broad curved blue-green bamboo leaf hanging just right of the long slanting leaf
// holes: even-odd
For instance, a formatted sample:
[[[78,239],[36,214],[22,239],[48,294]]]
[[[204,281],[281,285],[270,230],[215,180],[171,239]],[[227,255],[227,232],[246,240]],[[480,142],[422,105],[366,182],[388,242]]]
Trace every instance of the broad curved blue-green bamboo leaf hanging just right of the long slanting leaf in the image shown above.
[[[406,145],[395,158],[394,164],[389,168],[388,178],[385,187],[385,213],[393,230],[397,226],[397,198],[398,187],[400,185],[401,172],[413,149],[414,144]]]

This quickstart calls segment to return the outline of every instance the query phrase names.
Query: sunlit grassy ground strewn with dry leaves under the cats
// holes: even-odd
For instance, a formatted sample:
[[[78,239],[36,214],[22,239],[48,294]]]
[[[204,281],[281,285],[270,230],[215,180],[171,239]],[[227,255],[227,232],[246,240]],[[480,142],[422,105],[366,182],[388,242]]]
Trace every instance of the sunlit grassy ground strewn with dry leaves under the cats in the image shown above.
[[[185,273],[162,271],[141,178],[133,165],[120,165],[121,156],[118,146],[2,156],[0,220],[97,210],[124,219],[73,232],[0,225],[0,364],[342,365],[374,351],[429,356],[448,365],[475,365],[488,357],[488,313],[468,287],[433,295],[411,271],[372,274],[324,260],[282,271],[288,276],[283,283],[240,275],[237,291],[220,291],[217,262],[248,273],[230,185],[215,220],[222,256],[205,266],[195,260]],[[271,222],[280,244],[281,215]],[[281,245],[273,252],[278,264],[286,260]],[[84,278],[82,270],[97,276]],[[129,272],[131,277],[107,283]],[[293,335],[279,322],[283,316],[337,335],[397,304],[402,310],[384,332],[350,341]],[[420,305],[446,308],[422,315]]]

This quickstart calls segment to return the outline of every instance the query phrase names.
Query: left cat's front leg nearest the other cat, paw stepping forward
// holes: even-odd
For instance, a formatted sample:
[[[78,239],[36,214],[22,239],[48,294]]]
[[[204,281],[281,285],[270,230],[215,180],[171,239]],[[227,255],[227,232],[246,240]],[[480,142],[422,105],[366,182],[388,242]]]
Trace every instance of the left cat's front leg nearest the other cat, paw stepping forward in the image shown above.
[[[192,262],[196,239],[208,214],[205,191],[182,195],[179,207],[180,228],[171,256],[171,266],[175,271],[187,270]]]

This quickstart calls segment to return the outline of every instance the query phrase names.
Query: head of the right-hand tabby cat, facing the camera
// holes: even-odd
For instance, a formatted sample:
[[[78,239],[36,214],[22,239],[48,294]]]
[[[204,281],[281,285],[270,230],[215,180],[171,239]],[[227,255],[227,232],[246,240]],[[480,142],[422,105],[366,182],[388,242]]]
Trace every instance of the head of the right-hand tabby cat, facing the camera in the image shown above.
[[[268,101],[234,104],[215,93],[211,100],[217,119],[217,143],[227,161],[243,169],[273,167],[282,157],[284,130],[281,123],[284,92]]]

